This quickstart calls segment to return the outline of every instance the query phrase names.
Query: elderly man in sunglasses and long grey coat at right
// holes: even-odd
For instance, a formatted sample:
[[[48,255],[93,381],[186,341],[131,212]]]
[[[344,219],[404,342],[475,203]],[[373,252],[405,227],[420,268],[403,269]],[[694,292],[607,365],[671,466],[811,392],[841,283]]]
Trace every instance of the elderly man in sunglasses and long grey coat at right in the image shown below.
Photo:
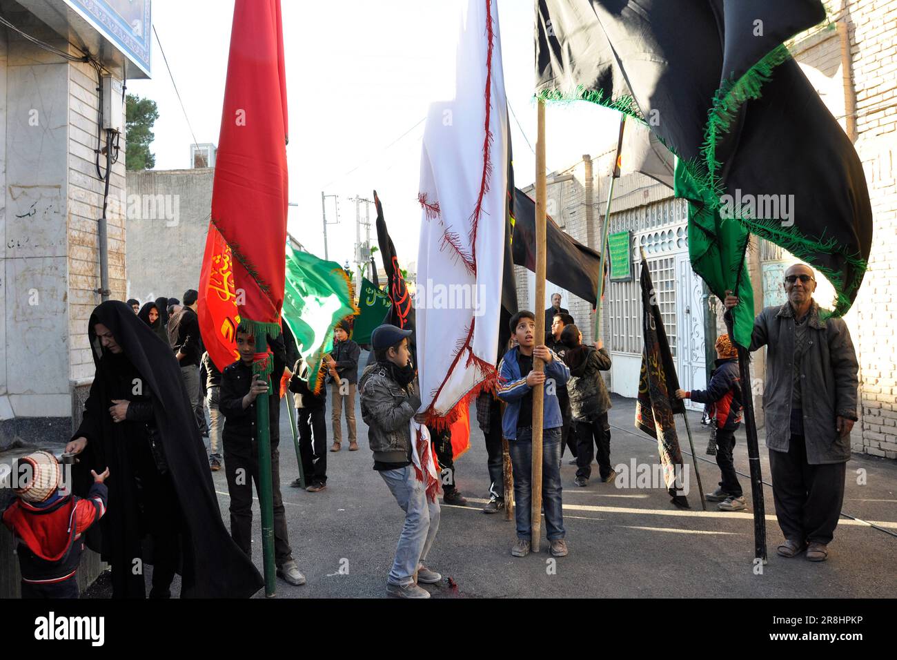
[[[844,499],[850,429],[857,420],[858,363],[847,324],[813,299],[813,269],[785,271],[788,302],[753,323],[751,350],[767,347],[763,409],[772,495],[785,535],[777,551],[824,561]],[[727,292],[730,294],[730,292]],[[727,309],[738,304],[727,295]]]

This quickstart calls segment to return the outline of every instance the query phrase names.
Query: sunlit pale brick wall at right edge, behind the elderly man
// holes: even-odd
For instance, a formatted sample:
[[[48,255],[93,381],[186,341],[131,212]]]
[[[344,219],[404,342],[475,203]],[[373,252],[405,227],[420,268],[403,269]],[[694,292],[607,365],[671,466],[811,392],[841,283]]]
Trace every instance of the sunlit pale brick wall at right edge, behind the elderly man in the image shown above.
[[[853,140],[872,202],[869,268],[845,317],[860,367],[851,439],[854,451],[897,458],[897,3],[826,4],[832,26],[802,35],[792,50]]]

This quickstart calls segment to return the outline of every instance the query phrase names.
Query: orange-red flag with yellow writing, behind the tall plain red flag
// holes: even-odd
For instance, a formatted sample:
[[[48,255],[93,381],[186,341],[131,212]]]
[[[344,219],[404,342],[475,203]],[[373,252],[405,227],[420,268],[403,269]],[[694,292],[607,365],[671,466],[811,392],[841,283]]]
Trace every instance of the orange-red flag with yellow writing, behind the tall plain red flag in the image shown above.
[[[239,359],[237,353],[236,293],[231,265],[231,248],[215,225],[209,224],[205,238],[203,271],[199,276],[199,331],[205,350],[219,371]]]

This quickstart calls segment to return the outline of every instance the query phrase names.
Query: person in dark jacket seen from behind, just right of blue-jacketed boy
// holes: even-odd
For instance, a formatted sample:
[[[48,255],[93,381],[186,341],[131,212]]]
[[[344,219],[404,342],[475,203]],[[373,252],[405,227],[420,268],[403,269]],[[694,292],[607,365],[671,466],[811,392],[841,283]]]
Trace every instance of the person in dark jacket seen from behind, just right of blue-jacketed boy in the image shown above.
[[[611,425],[607,411],[611,398],[601,372],[611,368],[611,356],[598,340],[595,348],[582,344],[582,333],[575,325],[563,329],[561,340],[567,347],[564,362],[570,367],[570,410],[576,422],[577,486],[586,486],[592,475],[592,456],[597,458],[598,473],[605,483],[616,477],[611,467]],[[593,447],[592,442],[595,445]]]

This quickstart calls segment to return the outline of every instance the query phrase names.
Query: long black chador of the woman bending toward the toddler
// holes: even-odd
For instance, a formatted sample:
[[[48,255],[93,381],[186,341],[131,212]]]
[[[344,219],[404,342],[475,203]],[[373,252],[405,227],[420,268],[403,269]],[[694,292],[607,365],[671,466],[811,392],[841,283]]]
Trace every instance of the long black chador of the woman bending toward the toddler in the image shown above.
[[[123,354],[115,355],[101,347],[97,323],[111,331]],[[178,361],[170,348],[157,341],[150,327],[118,301],[108,301],[93,310],[88,336],[97,371],[85,418],[76,434],[88,437],[87,448],[77,465],[88,473],[91,468],[99,472],[109,466],[109,521],[102,526],[104,533],[135,532],[134,521],[127,520],[126,515],[133,510],[126,503],[135,497],[135,484],[133,477],[129,478],[126,452],[119,451],[124,442],[133,438],[124,437],[126,425],[115,424],[107,412],[111,399],[116,398],[120,372],[133,367],[143,380],[144,392],[152,398],[155,427],[179,501],[180,511],[171,515],[180,518],[181,597],[239,598],[256,593],[264,582],[222,523],[205,447]],[[117,506],[117,501],[125,505]],[[135,540],[125,541],[111,547],[126,551]],[[109,547],[109,542],[102,543],[103,550],[108,551]],[[116,569],[130,570],[130,559],[109,559]]]

